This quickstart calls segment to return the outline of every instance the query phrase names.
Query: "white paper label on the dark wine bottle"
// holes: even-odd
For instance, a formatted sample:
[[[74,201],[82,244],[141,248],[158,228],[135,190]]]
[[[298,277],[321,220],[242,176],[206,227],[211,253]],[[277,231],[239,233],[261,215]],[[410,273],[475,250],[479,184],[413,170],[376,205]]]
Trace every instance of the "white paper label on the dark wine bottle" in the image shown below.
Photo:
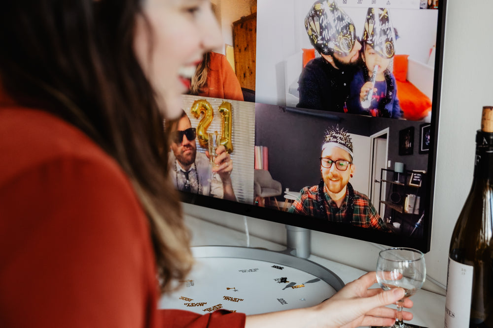
[[[445,328],[469,327],[473,271],[473,266],[458,263],[449,257]]]

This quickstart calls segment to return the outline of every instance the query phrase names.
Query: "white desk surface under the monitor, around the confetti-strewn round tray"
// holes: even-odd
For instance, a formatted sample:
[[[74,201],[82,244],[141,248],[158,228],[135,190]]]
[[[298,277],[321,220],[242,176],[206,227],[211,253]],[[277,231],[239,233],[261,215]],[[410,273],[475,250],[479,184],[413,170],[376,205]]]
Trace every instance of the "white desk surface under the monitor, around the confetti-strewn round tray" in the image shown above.
[[[192,231],[192,246],[226,245],[246,247],[245,233],[190,216],[186,216],[185,221]],[[285,249],[285,246],[280,244],[252,236],[250,236],[250,247],[263,247],[273,251]],[[308,259],[330,269],[345,283],[366,273],[360,269],[326,260],[315,255],[311,255]],[[378,287],[378,285],[375,287]],[[427,328],[444,327],[444,296],[420,290],[411,299],[414,301],[414,306],[410,309],[410,312],[414,314],[414,318],[409,323]]]

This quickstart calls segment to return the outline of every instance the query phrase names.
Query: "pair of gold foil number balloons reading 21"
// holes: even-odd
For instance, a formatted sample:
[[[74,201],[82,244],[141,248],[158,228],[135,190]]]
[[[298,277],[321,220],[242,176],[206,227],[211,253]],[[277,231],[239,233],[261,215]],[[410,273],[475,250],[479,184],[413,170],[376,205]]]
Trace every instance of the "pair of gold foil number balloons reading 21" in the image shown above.
[[[221,140],[220,145],[223,145],[228,153],[233,152],[233,143],[231,142],[231,131],[232,131],[232,115],[231,115],[231,103],[223,101],[223,103],[218,108],[219,114],[221,114]],[[200,99],[196,100],[190,112],[193,116],[198,119],[204,114],[204,117],[197,124],[197,138],[199,139],[199,144],[202,147],[207,148],[209,143],[209,138],[207,136],[207,129],[211,125],[212,119],[214,118],[214,110],[209,103],[209,101]]]

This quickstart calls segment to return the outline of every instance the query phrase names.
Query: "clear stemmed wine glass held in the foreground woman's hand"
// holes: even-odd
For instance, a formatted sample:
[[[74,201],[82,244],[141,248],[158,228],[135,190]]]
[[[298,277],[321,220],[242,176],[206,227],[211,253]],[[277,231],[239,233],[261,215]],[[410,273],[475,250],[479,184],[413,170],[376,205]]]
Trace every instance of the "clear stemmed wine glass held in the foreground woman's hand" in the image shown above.
[[[413,248],[389,248],[378,254],[377,281],[383,290],[400,287],[404,298],[414,295],[423,286],[426,278],[424,255]],[[404,298],[396,302],[397,316],[393,328],[408,328],[402,322]]]

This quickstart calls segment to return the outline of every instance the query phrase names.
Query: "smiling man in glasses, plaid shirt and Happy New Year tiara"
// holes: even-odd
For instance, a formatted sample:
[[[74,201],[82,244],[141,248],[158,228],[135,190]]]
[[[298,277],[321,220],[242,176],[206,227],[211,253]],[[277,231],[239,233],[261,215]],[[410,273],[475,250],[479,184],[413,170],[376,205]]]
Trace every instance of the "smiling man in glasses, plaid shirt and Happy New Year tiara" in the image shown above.
[[[338,126],[326,130],[320,157],[322,179],[318,185],[301,189],[300,197],[289,211],[387,231],[368,197],[355,191],[349,182],[355,169],[352,158],[352,141],[348,133]]]

